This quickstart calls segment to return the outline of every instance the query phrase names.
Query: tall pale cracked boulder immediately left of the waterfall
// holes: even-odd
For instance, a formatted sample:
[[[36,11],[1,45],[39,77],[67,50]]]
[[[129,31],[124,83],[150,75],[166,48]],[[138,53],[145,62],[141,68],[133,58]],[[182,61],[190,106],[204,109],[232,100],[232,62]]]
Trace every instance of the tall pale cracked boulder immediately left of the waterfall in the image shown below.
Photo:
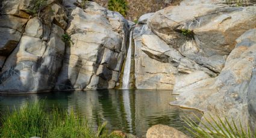
[[[86,9],[64,1],[69,9],[66,47],[56,90],[113,89],[119,80],[126,53],[128,22],[119,13],[95,2]]]

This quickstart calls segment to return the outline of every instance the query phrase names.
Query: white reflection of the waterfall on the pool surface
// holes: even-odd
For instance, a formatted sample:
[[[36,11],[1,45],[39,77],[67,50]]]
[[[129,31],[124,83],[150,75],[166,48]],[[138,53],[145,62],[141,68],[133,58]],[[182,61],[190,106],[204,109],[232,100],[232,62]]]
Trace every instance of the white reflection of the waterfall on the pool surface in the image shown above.
[[[123,91],[123,106],[125,107],[125,113],[126,113],[126,121],[128,122],[128,128],[130,133],[133,133],[132,128],[132,118],[131,118],[131,102],[130,102],[130,92],[129,90]]]

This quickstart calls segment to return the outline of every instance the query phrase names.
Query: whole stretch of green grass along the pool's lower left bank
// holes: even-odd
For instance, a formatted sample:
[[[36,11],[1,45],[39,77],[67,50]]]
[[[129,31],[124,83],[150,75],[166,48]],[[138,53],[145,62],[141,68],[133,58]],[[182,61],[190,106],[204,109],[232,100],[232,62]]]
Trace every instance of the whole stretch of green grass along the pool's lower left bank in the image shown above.
[[[49,137],[49,138],[120,138],[109,134],[107,123],[93,131],[86,118],[76,117],[73,112],[67,113],[54,109],[46,113],[43,102],[25,104],[22,109],[5,113],[1,120],[0,137]]]

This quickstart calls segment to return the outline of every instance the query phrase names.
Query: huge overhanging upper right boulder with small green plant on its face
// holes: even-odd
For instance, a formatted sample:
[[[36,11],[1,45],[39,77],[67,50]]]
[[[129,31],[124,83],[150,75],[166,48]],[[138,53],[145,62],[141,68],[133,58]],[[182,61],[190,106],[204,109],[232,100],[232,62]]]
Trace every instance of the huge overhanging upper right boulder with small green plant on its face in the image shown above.
[[[235,40],[255,27],[256,7],[229,7],[211,0],[191,3],[157,11],[148,26],[186,58],[220,73]]]

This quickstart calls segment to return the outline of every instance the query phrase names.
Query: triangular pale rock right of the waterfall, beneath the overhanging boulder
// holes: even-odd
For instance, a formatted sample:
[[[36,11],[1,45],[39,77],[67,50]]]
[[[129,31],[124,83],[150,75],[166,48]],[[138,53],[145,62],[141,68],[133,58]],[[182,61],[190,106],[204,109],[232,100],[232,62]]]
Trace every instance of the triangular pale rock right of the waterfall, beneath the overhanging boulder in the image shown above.
[[[142,16],[142,19],[146,20],[147,16]],[[173,89],[178,78],[198,70],[204,73],[202,76],[217,76],[208,68],[181,55],[155,35],[146,24],[140,23],[134,28],[133,39],[137,89]],[[194,82],[190,80],[190,83]]]

